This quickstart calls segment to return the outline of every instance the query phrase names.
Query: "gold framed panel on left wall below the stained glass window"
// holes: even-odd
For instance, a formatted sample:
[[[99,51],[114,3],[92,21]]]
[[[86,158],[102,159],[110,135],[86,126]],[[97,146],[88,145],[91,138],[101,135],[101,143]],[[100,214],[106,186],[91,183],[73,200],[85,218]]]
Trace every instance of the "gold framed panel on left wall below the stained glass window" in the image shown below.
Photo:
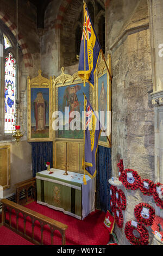
[[[10,188],[10,145],[0,147],[0,185]]]

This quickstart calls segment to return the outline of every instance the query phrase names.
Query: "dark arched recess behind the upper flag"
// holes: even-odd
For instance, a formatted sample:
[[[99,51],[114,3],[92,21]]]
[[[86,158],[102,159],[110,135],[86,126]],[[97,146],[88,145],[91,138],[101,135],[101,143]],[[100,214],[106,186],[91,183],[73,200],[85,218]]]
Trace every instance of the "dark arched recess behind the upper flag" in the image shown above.
[[[94,11],[94,26],[96,25],[96,16],[103,10],[105,13],[105,5],[103,0],[86,0],[86,4],[91,4]],[[59,68],[61,66],[71,66],[77,62],[77,53],[75,51],[75,30],[77,24],[82,23],[83,26],[83,1],[81,0],[63,0],[55,23],[55,28],[60,30],[60,56]]]

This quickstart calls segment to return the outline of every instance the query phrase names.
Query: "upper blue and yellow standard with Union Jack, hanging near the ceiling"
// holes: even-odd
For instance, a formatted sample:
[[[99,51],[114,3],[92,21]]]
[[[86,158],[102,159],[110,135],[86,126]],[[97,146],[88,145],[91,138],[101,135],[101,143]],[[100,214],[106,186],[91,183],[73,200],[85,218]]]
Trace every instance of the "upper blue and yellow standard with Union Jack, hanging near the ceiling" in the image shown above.
[[[101,45],[93,27],[89,10],[84,2],[84,24],[80,44],[78,75],[82,80],[94,88],[94,74],[97,68],[98,59],[101,53]]]

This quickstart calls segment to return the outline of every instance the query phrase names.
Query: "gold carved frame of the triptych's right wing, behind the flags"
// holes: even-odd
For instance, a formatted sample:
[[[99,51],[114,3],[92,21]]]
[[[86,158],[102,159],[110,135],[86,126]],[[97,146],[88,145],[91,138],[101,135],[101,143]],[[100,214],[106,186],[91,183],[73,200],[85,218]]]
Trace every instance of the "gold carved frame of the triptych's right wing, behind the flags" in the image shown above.
[[[108,68],[111,74],[111,56],[110,54],[108,54],[108,59],[107,59],[107,64],[108,64]],[[106,69],[106,65],[105,62],[101,56],[101,58],[99,59],[99,64],[97,66],[97,70],[96,70],[96,86],[95,86],[95,90],[96,90],[96,111],[98,111],[98,80],[99,78],[101,78],[102,76],[106,75],[107,76],[107,95],[106,95],[106,103],[107,103],[107,109],[106,111],[108,111],[108,120],[109,120],[109,131],[110,131],[110,135],[109,135],[109,141],[111,143],[111,78],[109,76],[109,72]],[[101,145],[103,147],[108,147],[111,148],[111,145],[109,143],[108,139],[106,139],[106,142],[101,141],[101,139],[99,138],[98,141],[98,145]]]

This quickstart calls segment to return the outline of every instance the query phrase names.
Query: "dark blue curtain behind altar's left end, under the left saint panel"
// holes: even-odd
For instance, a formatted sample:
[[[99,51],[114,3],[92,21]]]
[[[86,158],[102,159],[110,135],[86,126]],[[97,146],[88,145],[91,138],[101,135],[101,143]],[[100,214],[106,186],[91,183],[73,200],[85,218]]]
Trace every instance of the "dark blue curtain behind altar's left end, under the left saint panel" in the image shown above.
[[[46,162],[53,167],[53,142],[32,142],[32,168],[33,177],[37,172],[46,170]]]

